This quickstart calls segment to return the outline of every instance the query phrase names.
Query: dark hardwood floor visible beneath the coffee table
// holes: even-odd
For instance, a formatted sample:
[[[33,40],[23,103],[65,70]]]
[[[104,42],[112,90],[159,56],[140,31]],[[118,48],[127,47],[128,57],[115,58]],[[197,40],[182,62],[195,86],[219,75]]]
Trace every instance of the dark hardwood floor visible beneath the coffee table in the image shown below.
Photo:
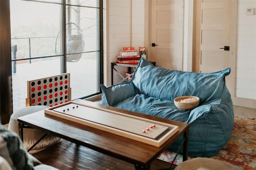
[[[61,141],[33,156],[43,164],[60,170],[135,170],[133,164],[69,141]],[[169,166],[169,163],[156,159],[150,169],[166,169]]]

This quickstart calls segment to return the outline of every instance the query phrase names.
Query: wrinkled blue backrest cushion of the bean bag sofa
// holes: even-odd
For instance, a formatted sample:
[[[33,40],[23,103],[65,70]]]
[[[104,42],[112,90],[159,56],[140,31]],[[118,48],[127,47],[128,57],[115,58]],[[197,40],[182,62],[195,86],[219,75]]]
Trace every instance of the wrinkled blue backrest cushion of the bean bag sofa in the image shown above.
[[[213,73],[168,70],[141,59],[132,77],[139,94],[173,101],[178,96],[198,96],[200,103],[220,98],[230,68]]]

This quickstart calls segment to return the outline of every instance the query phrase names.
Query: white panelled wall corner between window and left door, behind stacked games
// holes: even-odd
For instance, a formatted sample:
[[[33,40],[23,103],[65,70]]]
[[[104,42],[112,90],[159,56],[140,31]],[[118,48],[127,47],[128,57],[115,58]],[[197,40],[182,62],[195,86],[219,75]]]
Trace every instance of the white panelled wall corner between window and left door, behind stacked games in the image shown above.
[[[116,61],[116,55],[122,47],[144,47],[144,0],[108,0],[108,79],[111,84],[111,63]],[[116,67],[116,66],[115,66]],[[124,74],[126,67],[117,67]],[[122,78],[114,72],[114,84]]]

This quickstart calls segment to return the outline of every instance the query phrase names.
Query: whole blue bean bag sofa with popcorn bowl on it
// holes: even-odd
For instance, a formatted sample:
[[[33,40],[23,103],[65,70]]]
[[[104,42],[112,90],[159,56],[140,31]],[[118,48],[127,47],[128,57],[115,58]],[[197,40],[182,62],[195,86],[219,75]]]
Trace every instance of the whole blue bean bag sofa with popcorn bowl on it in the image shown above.
[[[168,70],[142,58],[129,82],[110,87],[101,84],[102,104],[189,123],[188,155],[211,157],[226,145],[234,126],[233,104],[225,84],[230,70]],[[199,106],[178,109],[173,102],[178,96],[198,96]],[[168,149],[177,152],[182,139]]]

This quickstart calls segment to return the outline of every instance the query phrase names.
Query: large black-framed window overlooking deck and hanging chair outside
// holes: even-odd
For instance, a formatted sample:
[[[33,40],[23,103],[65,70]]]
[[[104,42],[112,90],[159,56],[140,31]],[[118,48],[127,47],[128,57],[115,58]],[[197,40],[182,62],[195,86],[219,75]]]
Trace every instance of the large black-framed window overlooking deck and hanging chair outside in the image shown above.
[[[70,73],[72,100],[100,93],[102,0],[10,0],[13,110],[27,80]]]

